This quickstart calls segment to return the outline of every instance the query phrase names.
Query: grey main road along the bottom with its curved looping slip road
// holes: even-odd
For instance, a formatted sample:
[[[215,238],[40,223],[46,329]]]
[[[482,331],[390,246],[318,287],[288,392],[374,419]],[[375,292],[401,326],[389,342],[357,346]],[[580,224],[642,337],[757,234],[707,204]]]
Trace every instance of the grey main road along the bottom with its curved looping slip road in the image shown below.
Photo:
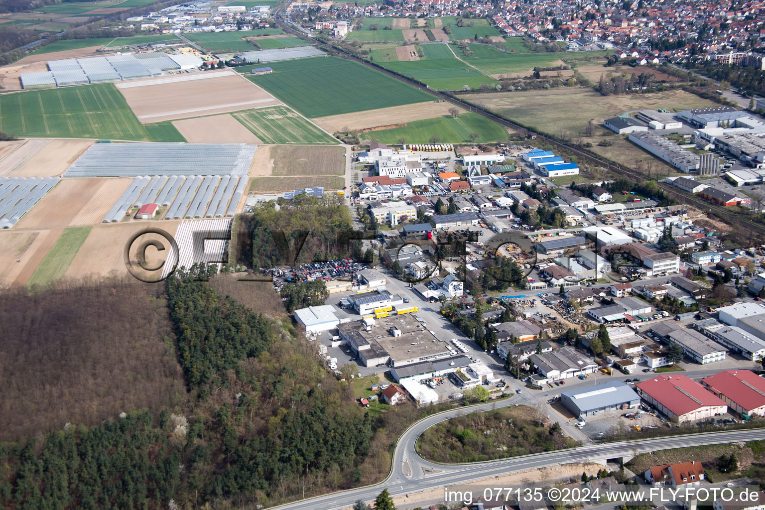
[[[392,496],[439,489],[448,486],[476,482],[493,476],[517,473],[528,469],[540,469],[566,463],[588,462],[591,459],[611,459],[634,456],[668,448],[696,447],[705,444],[734,443],[739,441],[765,440],[765,429],[706,432],[684,436],[655,437],[651,439],[619,441],[605,444],[587,444],[582,447],[554,452],[535,453],[505,460],[483,463],[444,465],[428,462],[415,451],[417,438],[428,428],[450,418],[474,411],[489,411],[516,404],[515,399],[489,402],[445,411],[423,418],[407,429],[396,445],[393,466],[389,476],[373,485],[350,489],[298,502],[272,507],[277,510],[341,510],[353,505],[357,499],[373,501],[382,489]]]

